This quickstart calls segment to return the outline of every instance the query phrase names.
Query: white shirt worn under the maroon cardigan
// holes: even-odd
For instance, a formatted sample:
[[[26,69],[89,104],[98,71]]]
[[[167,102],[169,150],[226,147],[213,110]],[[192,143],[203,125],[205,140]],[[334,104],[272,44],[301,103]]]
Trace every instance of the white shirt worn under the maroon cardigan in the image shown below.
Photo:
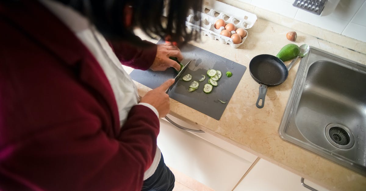
[[[52,0],[39,0],[53,14],[55,14],[68,28],[74,32],[76,37],[86,46],[91,54],[96,58],[115,95],[120,127],[127,119],[128,112],[134,105],[144,105],[152,109],[159,117],[154,106],[147,103],[138,103],[139,96],[137,87],[131,77],[124,71],[122,64],[109,46],[107,40],[97,29],[89,23],[89,20],[70,7]],[[161,158],[161,151],[157,147],[152,165],[144,173],[143,180],[146,180],[155,172]]]

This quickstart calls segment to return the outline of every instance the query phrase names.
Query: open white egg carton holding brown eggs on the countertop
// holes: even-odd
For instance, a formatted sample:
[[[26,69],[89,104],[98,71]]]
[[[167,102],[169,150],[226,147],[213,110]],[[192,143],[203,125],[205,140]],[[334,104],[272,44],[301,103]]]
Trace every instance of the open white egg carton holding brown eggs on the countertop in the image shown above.
[[[219,1],[212,1],[212,2],[215,3],[215,4],[212,3],[213,5],[220,6],[221,10],[226,10],[228,12],[235,12],[235,15],[241,15],[241,16],[235,18],[233,15],[229,16],[227,14],[224,14],[223,12],[220,12],[218,14],[218,12],[216,12],[214,9],[210,9],[208,11],[207,9],[208,9],[208,7],[210,7],[211,4],[206,3],[206,8],[203,8],[203,10],[202,10],[203,12],[201,12],[201,26],[197,26],[194,24],[195,21],[194,21],[194,17],[192,14],[187,17],[186,26],[190,30],[201,29],[201,33],[203,35],[207,35],[207,36],[209,36],[209,38],[211,38],[213,40],[219,40],[223,44],[229,44],[232,48],[238,48],[240,45],[242,45],[244,43],[244,41],[248,37],[249,33],[246,29],[249,29],[254,25],[255,21],[257,20],[257,15],[244,11],[244,10],[240,10],[236,7],[232,7],[230,5],[221,3]],[[204,13],[204,12],[206,12],[206,13]],[[217,16],[215,16],[215,15],[217,15]],[[238,19],[238,18],[242,18],[242,19]],[[232,38],[226,37],[226,36],[220,34],[220,32],[222,30],[224,30],[224,27],[222,26],[222,27],[220,27],[220,29],[216,29],[214,27],[214,23],[219,19],[223,19],[226,24],[228,24],[228,23],[234,24],[236,29],[243,28],[246,31],[247,35],[244,38],[242,38],[241,43],[234,44],[234,42],[232,41]],[[231,31],[230,33],[234,34],[235,31]]]

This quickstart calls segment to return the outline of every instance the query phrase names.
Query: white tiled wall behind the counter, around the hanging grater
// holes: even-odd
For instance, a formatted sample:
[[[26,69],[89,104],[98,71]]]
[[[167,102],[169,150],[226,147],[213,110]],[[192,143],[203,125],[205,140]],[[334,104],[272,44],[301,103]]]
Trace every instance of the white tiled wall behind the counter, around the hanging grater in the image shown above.
[[[233,0],[235,1],[235,0]],[[335,10],[318,16],[292,6],[295,0],[238,0],[310,25],[366,42],[366,0],[340,0]],[[331,1],[331,0],[329,0]]]

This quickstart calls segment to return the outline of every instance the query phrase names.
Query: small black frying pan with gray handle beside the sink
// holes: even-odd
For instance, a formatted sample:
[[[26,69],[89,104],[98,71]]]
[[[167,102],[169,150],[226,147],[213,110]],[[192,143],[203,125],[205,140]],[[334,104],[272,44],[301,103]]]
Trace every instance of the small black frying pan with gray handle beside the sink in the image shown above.
[[[289,65],[289,67],[291,67]],[[251,59],[249,71],[252,78],[260,84],[257,108],[263,108],[267,93],[267,86],[276,86],[284,82],[288,76],[288,70],[282,60],[273,55],[258,55]],[[262,100],[261,105],[259,101]]]

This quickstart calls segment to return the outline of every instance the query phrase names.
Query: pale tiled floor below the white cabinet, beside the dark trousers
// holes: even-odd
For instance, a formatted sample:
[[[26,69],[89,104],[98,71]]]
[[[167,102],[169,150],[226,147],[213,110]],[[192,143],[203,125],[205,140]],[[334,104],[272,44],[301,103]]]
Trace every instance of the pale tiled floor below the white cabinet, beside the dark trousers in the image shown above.
[[[199,181],[184,175],[182,172],[179,172],[170,166],[169,168],[175,176],[175,186],[173,191],[214,191]]]

